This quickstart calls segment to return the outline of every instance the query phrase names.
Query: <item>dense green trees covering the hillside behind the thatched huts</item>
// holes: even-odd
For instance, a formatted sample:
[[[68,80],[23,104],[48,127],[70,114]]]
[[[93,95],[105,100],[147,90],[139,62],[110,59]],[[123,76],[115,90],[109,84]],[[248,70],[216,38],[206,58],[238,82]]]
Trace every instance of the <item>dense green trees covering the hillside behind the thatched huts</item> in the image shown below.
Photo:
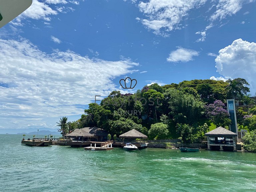
[[[184,143],[190,143],[205,139],[210,123],[230,124],[225,102],[235,97],[248,106],[237,111],[240,125],[253,130],[254,117],[244,116],[255,114],[256,108],[254,100],[246,95],[249,88],[244,85],[249,84],[241,78],[227,82],[195,79],[164,86],[155,83],[133,94],[112,91],[100,104],[90,103],[79,120],[67,122],[63,117],[57,126],[62,134],[96,126],[117,137],[136,129],[151,139],[181,137]]]

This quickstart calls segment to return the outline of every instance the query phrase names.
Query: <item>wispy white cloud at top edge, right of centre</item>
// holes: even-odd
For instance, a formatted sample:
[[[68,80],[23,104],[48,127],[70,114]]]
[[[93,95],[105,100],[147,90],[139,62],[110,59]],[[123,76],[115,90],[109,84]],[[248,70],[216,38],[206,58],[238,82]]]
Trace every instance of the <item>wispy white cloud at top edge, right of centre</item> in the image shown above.
[[[147,19],[142,24],[148,29],[154,30],[155,34],[166,34],[164,31],[179,29],[180,22],[188,15],[188,11],[200,7],[206,0],[150,0],[147,3],[140,2],[139,8]]]

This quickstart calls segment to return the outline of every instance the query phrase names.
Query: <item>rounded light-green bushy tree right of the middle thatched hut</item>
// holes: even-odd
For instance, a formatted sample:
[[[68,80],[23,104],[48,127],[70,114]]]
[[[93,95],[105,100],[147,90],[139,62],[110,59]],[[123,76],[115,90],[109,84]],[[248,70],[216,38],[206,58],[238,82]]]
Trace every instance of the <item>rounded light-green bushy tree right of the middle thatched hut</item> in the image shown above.
[[[148,131],[148,135],[152,139],[166,139],[169,133],[167,127],[168,126],[163,123],[152,124]]]

